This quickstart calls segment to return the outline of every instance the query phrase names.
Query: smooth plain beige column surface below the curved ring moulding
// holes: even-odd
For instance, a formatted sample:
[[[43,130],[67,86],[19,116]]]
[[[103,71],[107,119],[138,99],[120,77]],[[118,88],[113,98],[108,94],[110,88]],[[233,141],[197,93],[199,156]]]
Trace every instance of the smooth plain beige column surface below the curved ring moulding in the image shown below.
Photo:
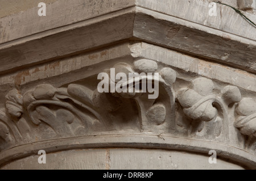
[[[234,163],[218,159],[208,162],[207,155],[153,149],[77,149],[46,154],[46,164],[39,155],[13,161],[1,169],[99,169],[99,170],[243,170]],[[103,175],[102,175],[103,177]]]

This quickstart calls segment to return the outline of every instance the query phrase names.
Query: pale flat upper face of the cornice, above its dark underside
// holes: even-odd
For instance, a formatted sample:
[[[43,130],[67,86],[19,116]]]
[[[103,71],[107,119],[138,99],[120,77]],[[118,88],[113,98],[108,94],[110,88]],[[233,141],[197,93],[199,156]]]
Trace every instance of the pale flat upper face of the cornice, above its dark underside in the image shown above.
[[[174,16],[179,19],[187,19],[189,22],[255,40],[255,35],[251,35],[254,27],[250,26],[245,19],[238,16],[230,7],[217,4],[218,15],[209,16],[210,2],[203,0],[179,0],[179,3],[169,0],[107,0],[104,1],[104,4],[101,4],[100,0],[93,2],[89,0],[58,0],[47,5],[46,17],[38,16],[38,7],[34,7],[24,12],[1,18],[0,32],[2,33],[0,33],[0,44],[134,6]],[[73,13],[67,16],[63,12]],[[198,15],[198,12],[201,12],[201,15]],[[255,14],[243,13],[250,16],[251,20],[255,22]],[[234,24],[232,20],[236,20],[236,23]],[[36,22],[37,25],[35,26],[31,22]],[[14,26],[22,27],[22,29],[16,29]]]

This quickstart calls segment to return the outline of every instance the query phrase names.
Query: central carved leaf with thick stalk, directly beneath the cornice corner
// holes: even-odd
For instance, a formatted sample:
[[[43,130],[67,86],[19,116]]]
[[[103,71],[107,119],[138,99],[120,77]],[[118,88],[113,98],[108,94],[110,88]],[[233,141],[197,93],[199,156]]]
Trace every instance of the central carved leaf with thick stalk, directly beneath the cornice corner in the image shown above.
[[[126,99],[134,99],[137,102],[142,131],[168,131],[168,127],[171,127],[171,120],[174,118],[170,117],[170,115],[175,115],[175,95],[174,90],[172,89],[172,84],[176,81],[176,71],[171,68],[163,68],[158,71],[158,64],[155,61],[144,59],[135,61],[133,67],[125,63],[119,63],[116,64],[113,68],[115,68],[116,74],[139,74],[139,81],[138,78],[128,77],[127,82],[122,83],[122,86],[127,87],[129,87],[129,84],[134,85],[134,87],[135,85],[139,84],[139,91],[136,92],[133,90],[130,92],[114,93],[113,95]],[[155,77],[153,75],[151,76],[148,74],[143,75],[141,73],[158,73],[159,77]],[[118,84],[118,81],[116,80],[110,79],[110,81],[114,82],[115,85]],[[157,93],[160,94],[157,96],[157,98],[148,99],[148,97],[150,97],[150,95],[148,95],[149,93],[143,91],[142,89],[143,81],[147,83],[151,82],[154,85],[154,89],[156,89],[156,86],[158,86],[159,83],[159,87],[156,91],[158,91]],[[167,102],[163,101],[166,100],[166,98],[169,100]],[[167,112],[169,115],[167,115]]]

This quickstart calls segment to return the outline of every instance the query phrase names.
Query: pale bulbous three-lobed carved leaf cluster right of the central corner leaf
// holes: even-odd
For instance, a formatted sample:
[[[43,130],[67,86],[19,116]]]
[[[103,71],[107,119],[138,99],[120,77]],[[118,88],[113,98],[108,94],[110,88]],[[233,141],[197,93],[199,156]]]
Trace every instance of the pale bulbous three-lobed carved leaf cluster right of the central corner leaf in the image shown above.
[[[224,87],[219,96],[216,96],[213,90],[212,80],[197,78],[192,82],[192,89],[181,89],[178,93],[177,100],[183,107],[184,114],[192,120],[201,121],[199,132],[204,128],[203,122],[215,121],[223,127],[223,123],[229,121],[228,106],[241,100],[240,90],[235,86]],[[218,126],[219,131],[221,127]],[[228,128],[224,129],[228,132]]]

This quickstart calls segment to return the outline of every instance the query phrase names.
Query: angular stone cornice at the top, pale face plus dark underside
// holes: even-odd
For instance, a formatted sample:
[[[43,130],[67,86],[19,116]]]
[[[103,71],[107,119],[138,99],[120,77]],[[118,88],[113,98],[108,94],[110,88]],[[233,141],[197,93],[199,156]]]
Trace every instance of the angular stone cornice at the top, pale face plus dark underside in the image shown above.
[[[18,66],[40,64],[127,39],[147,41],[256,72],[254,61],[256,37],[254,33],[248,33],[254,32],[255,27],[227,6],[217,5],[218,9],[221,9],[222,17],[225,17],[220,19],[221,16],[208,15],[209,2],[207,1],[191,3],[179,1],[178,5],[175,1],[158,1],[158,6],[154,6],[156,1],[153,0],[108,1],[107,8],[102,12],[96,13],[99,3],[96,2],[95,5],[85,3],[85,6],[91,7],[92,12],[88,10],[85,14],[77,12],[79,17],[76,19],[72,19],[72,15],[69,18],[64,16],[56,18],[59,6],[61,10],[63,6],[75,9],[82,7],[80,3],[82,2],[77,1],[77,4],[72,3],[72,5],[68,1],[52,3],[49,5],[49,14],[45,18],[37,15],[28,16],[35,9],[1,18],[2,27],[5,29],[0,29],[2,32],[0,73],[15,70]],[[196,8],[191,9],[191,6]],[[56,14],[51,9],[56,9]],[[78,11],[85,12],[82,8]],[[199,11],[201,15],[198,17]],[[11,28],[13,25],[7,25],[10,18],[14,19],[13,25],[15,24],[16,27],[24,27],[26,24],[26,28],[21,31]],[[31,22],[29,18],[33,18],[42,26],[19,22],[19,20]],[[64,20],[60,21],[61,18]],[[255,15],[250,15],[250,18],[254,20]],[[55,23],[56,21],[64,24]],[[233,23],[234,21],[236,23]],[[102,24],[108,24],[108,26],[102,26]],[[28,34],[24,34],[25,32]]]

